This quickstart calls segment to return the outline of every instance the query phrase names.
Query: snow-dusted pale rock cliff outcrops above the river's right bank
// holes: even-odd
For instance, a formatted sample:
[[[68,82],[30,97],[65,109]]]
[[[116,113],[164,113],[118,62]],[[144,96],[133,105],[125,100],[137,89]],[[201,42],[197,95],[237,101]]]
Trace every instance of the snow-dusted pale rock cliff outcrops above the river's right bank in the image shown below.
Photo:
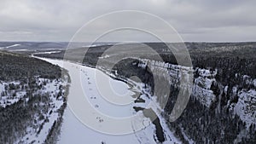
[[[218,69],[204,69],[195,67],[190,70],[189,67],[172,65],[166,62],[154,60],[142,60],[137,64],[143,69],[146,66],[154,72],[154,78],[161,78],[161,81],[168,80],[168,84],[172,87],[187,86],[187,84],[179,85],[181,73],[189,76],[189,72],[194,72],[194,83],[192,85],[192,99],[207,107],[215,107],[218,112],[222,108],[227,109],[234,114],[237,114],[242,121],[247,124],[256,124],[256,79],[250,78],[247,75],[239,75],[236,73],[236,78],[241,80],[240,84],[224,85],[216,79]],[[232,89],[232,90],[230,90]],[[172,89],[171,89],[172,90]],[[157,95],[157,94],[156,94]],[[164,95],[157,95],[162,97]],[[222,96],[229,97],[229,100],[221,104]]]

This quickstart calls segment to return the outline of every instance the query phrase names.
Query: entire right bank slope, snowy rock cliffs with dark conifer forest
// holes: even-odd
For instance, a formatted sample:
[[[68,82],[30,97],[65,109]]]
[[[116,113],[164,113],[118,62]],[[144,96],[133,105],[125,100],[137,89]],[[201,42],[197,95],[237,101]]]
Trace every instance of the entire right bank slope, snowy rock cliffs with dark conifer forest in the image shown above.
[[[192,90],[182,116],[169,123],[170,129],[176,131],[177,137],[184,143],[256,141],[256,79],[235,73],[234,79],[230,81],[222,77],[218,68],[192,69],[147,59],[128,61],[126,65],[114,67],[117,69],[116,74],[129,78],[128,73],[134,72],[137,67],[137,77],[151,87],[152,94],[157,96],[160,107],[165,110],[162,114],[166,120],[169,120],[181,87]],[[194,76],[193,83],[181,83],[182,78],[189,79],[190,72]],[[160,84],[156,85],[157,81]],[[225,83],[227,81],[230,83]],[[169,97],[166,96],[168,92]]]

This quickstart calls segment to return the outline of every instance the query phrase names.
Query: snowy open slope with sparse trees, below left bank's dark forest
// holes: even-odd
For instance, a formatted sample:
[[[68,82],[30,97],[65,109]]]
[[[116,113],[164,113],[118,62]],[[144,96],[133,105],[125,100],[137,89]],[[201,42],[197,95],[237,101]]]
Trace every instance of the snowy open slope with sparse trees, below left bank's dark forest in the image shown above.
[[[51,80],[47,78],[38,78],[36,82],[40,89],[34,91],[32,95],[43,97],[46,95],[49,103],[44,103],[43,101],[33,104],[33,107],[47,107],[42,108],[42,112],[36,112],[32,115],[33,123],[26,127],[26,135],[22,135],[17,138],[15,143],[31,143],[37,141],[38,143],[43,143],[46,141],[49,135],[49,130],[53,128],[53,124],[61,118],[59,111],[64,107],[66,98],[64,97],[65,85],[67,82],[61,80]],[[15,88],[12,89],[14,85]],[[16,104],[18,101],[24,101],[28,103],[30,96],[28,96],[27,84],[20,84],[20,82],[1,82],[0,83],[0,107],[6,108],[8,106]]]

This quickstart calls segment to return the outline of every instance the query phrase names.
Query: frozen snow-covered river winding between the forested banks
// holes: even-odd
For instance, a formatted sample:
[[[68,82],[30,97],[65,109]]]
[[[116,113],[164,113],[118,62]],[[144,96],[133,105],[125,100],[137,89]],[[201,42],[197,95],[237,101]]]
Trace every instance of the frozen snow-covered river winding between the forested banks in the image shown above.
[[[136,112],[132,108],[135,106],[146,108],[151,106],[158,118],[160,118],[160,125],[163,128],[163,133],[166,139],[163,143],[181,143],[168,129],[165,119],[160,116],[161,110],[159,110],[160,107],[154,102],[154,97],[150,98],[150,96],[147,97],[146,95],[142,95],[141,98],[145,100],[145,103],[138,104],[134,102],[135,98],[132,96],[135,95],[136,92],[142,92],[143,87],[140,86],[141,84],[138,84],[136,88],[131,88],[130,85],[114,80],[106,73],[96,70],[95,68],[81,66],[63,60],[43,60],[63,66],[67,69],[71,78],[67,99],[68,106],[73,105],[73,102],[77,102],[77,105],[81,106],[79,107],[79,113],[77,113],[74,107],[67,107],[67,110],[64,112],[61,136],[59,137],[60,140],[58,143],[160,143],[155,134],[156,129],[154,124],[151,123],[149,118],[143,116],[143,112]],[[114,91],[115,93],[109,91]],[[124,97],[121,99],[119,98],[120,95]],[[113,97],[116,97],[116,99],[113,99]],[[119,105],[120,103],[121,105]],[[73,111],[75,111],[75,113]],[[133,115],[137,115],[138,117],[130,119],[130,121],[126,120],[127,123],[120,122],[120,118],[125,119]],[[79,118],[76,116],[79,116]],[[90,122],[88,119],[90,119]],[[88,123],[83,124],[81,121]],[[144,126],[142,130],[136,132],[131,131],[131,133],[123,135],[118,133],[122,130],[136,130],[137,126],[141,128],[142,125],[140,125],[140,123],[142,121]],[[120,126],[119,124],[122,123],[125,125]],[[99,132],[101,130],[105,133]],[[113,135],[114,131],[117,132],[116,135]]]

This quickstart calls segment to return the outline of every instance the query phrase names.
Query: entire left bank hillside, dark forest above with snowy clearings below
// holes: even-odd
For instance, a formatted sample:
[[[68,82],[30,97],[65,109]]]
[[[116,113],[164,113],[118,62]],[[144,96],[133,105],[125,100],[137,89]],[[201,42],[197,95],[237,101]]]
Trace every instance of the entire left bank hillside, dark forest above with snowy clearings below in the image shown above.
[[[67,106],[67,72],[6,51],[0,67],[0,143],[55,143]]]

